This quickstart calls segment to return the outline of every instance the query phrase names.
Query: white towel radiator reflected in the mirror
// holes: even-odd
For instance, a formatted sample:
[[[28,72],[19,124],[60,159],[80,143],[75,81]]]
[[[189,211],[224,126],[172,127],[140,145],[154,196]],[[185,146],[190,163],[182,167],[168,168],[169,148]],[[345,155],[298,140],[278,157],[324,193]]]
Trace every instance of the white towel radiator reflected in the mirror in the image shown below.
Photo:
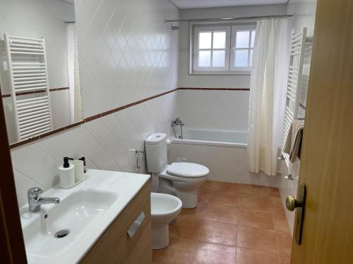
[[[4,40],[17,139],[28,139],[52,130],[44,38],[4,34]]]

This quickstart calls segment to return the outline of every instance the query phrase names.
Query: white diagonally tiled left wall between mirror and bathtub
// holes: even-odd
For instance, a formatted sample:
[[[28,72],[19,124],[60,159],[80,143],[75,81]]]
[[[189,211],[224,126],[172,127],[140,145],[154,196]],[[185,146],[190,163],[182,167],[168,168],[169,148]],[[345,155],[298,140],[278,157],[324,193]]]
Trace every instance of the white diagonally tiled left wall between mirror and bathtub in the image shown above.
[[[178,32],[166,18],[179,10],[167,0],[76,1],[78,53],[85,118],[177,88]],[[168,132],[174,93],[106,115],[11,151],[20,206],[27,189],[58,182],[64,156],[85,156],[88,168],[136,169],[130,149],[152,132]]]

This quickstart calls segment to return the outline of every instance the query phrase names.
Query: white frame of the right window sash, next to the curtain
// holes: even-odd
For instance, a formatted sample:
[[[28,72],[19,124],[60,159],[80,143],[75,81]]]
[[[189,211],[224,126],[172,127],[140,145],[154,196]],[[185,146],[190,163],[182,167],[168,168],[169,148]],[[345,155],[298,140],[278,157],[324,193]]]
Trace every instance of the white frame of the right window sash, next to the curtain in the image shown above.
[[[249,31],[249,46],[248,46],[248,48],[237,48],[236,47],[237,31]],[[235,61],[235,51],[247,50],[247,51],[249,51],[249,54],[248,54],[248,65],[249,65],[250,51],[253,51],[253,47],[251,48],[251,32],[253,32],[253,31],[256,31],[256,25],[232,25],[229,71],[251,73],[252,67],[236,67],[236,66],[234,66],[234,61]]]

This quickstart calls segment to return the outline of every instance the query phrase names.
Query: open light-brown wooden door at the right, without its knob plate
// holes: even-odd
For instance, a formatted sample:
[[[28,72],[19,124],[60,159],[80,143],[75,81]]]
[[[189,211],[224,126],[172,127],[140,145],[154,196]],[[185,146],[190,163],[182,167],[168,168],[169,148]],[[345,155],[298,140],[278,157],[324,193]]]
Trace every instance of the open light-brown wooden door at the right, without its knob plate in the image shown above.
[[[318,0],[306,106],[299,183],[307,196],[292,264],[352,264],[352,0]]]

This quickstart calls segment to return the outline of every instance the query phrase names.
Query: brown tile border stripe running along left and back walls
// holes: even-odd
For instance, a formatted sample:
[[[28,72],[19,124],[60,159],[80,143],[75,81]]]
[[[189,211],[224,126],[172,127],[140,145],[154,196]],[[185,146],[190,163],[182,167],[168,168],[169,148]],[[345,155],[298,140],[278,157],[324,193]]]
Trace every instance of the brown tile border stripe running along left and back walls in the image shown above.
[[[58,88],[58,89],[61,89],[61,88]],[[177,89],[172,89],[172,90],[169,90],[167,92],[163,92],[162,94],[157,94],[157,95],[154,95],[154,96],[150,96],[148,98],[145,98],[145,99],[142,99],[140,101],[136,101],[136,102],[133,102],[133,103],[128,103],[126,104],[125,106],[119,106],[118,108],[114,108],[112,110],[109,110],[109,111],[105,111],[103,113],[99,113],[97,115],[92,115],[88,118],[85,118],[84,120],[80,121],[80,122],[76,122],[76,123],[73,123],[71,125],[68,125],[66,127],[61,127],[61,128],[58,128],[56,130],[52,130],[52,131],[49,131],[47,133],[44,133],[44,134],[40,134],[39,136],[36,136],[36,137],[31,137],[30,139],[25,139],[21,142],[16,142],[16,143],[13,143],[13,144],[10,144],[10,149],[14,149],[18,146],[23,146],[24,144],[28,144],[30,142],[34,142],[35,140],[37,139],[43,139],[44,137],[49,137],[51,136],[52,134],[56,134],[56,133],[59,133],[59,132],[63,132],[64,130],[69,130],[71,129],[72,127],[77,127],[78,125],[82,125],[84,124],[85,122],[90,122],[92,120],[96,120],[98,118],[102,118],[103,116],[105,115],[111,115],[112,113],[116,113],[116,112],[119,112],[121,110],[124,110],[126,108],[129,108],[131,106],[136,106],[140,103],[143,103],[145,101],[150,101],[152,99],[155,99],[155,98],[158,98],[160,96],[164,96],[166,94],[170,94],[172,92],[176,92],[178,90],[185,90],[185,89],[189,89],[189,90],[193,90],[193,89],[197,89],[197,90],[217,90],[217,88],[177,88]],[[231,91],[247,91],[249,90],[249,88],[220,88],[219,90],[231,90]]]

